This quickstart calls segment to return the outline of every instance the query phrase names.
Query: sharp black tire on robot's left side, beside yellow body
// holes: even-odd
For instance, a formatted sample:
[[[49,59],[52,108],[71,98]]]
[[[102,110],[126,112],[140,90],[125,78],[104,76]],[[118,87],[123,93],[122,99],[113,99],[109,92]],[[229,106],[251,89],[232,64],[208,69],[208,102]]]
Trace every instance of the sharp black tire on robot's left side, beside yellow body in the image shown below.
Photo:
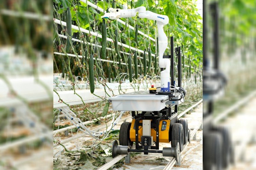
[[[119,144],[122,146],[129,146],[132,147],[133,142],[130,139],[130,122],[124,122],[121,124],[120,133],[119,133]]]

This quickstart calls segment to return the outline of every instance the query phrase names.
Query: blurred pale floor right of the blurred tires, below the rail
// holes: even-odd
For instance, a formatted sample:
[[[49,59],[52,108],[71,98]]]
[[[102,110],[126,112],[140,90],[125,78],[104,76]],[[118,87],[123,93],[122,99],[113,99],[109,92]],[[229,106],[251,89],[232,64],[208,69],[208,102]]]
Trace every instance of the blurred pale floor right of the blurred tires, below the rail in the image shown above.
[[[256,97],[220,125],[230,130],[235,165],[230,170],[256,170]]]

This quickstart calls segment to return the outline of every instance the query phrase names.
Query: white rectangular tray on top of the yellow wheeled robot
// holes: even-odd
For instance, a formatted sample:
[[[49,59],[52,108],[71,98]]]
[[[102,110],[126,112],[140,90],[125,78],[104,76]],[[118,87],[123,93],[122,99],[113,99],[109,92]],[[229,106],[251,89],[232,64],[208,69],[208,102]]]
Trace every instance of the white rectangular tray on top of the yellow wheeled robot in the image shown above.
[[[160,111],[165,107],[167,95],[150,94],[139,91],[109,97],[113,110],[117,111]]]

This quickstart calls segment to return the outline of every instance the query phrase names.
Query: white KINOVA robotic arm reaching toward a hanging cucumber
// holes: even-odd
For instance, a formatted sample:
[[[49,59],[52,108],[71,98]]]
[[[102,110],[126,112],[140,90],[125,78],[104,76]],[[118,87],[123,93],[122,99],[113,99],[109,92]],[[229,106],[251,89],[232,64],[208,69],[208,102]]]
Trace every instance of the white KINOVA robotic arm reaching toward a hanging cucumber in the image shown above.
[[[158,44],[159,44],[159,67],[166,68],[164,71],[161,71],[161,91],[162,92],[169,92],[170,91],[170,60],[163,59],[163,53],[168,46],[168,38],[163,31],[163,25],[169,23],[169,18],[166,15],[160,15],[157,13],[153,13],[151,11],[146,11],[145,7],[138,7],[135,9],[126,9],[127,7],[124,6],[125,9],[113,9],[109,8],[108,13],[105,13],[102,18],[108,18],[112,20],[116,20],[119,18],[126,18],[126,17],[134,17],[136,16],[137,12],[139,13],[138,16],[140,18],[147,18],[149,20],[157,21],[157,28],[158,28]]]

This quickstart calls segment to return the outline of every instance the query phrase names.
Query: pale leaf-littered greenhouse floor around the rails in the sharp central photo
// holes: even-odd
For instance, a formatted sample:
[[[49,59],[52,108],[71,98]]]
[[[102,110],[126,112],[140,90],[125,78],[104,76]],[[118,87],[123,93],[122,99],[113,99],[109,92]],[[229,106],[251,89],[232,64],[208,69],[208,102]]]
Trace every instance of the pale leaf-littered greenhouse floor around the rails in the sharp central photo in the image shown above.
[[[127,117],[126,121],[131,121],[131,117],[125,115]],[[190,114],[185,114],[185,118],[188,119],[189,127],[193,128],[198,124],[199,120],[202,120],[202,104],[198,105],[194,108],[193,112]],[[120,122],[118,125],[115,126],[114,129],[120,129]],[[97,125],[98,127],[101,125]],[[80,133],[78,133],[80,134]],[[176,167],[174,166],[172,169],[188,169],[188,170],[198,170],[202,169],[203,164],[203,157],[202,157],[202,130],[198,130],[196,132],[196,140],[191,140],[191,144],[188,144],[181,157],[184,157],[181,161],[181,166]],[[64,136],[61,136],[63,139]],[[71,133],[69,133],[68,137],[72,137]],[[92,138],[90,137],[82,137],[76,138],[76,132],[73,132],[74,140],[68,143],[65,143],[64,146],[67,150],[77,150],[79,147],[80,149],[87,149],[90,145],[92,145]],[[56,139],[58,136],[56,137]],[[111,157],[111,145],[114,139],[118,139],[117,136],[114,136],[112,139],[103,141],[100,144],[100,154],[92,155],[93,159],[86,159],[86,161],[81,160],[82,156],[79,152],[69,153],[63,149],[62,146],[54,147],[54,169],[81,169],[81,170],[92,170],[97,169],[100,166],[104,165],[104,163],[108,162],[112,159]],[[79,145],[79,146],[78,146]],[[162,147],[170,147],[169,143],[160,143],[160,148]],[[91,156],[91,155],[89,155]],[[89,160],[90,159],[90,160]],[[162,154],[149,154],[149,155],[142,155],[131,153],[130,163],[125,164],[123,159],[120,160],[115,166],[112,166],[114,170],[144,170],[146,169],[153,169],[153,170],[162,170],[170,161],[168,157],[163,157]]]

